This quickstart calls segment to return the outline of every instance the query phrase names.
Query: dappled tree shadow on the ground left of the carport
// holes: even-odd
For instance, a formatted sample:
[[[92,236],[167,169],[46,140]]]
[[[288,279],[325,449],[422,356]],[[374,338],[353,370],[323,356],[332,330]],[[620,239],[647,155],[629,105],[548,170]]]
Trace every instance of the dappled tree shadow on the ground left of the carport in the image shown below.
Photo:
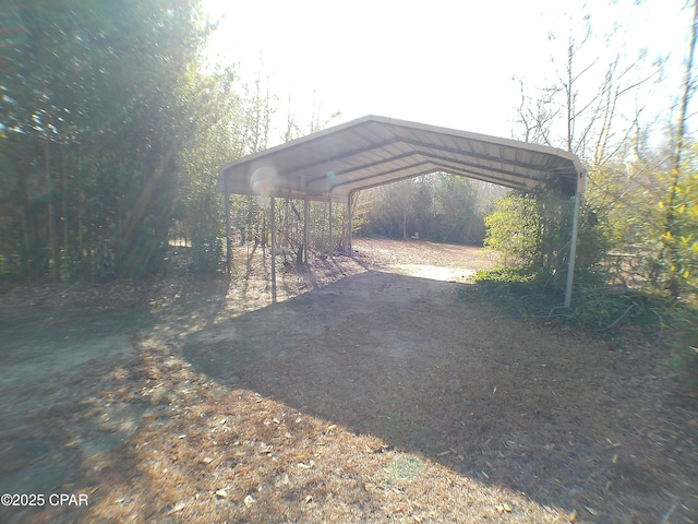
[[[192,279],[163,303],[154,299],[111,309],[87,302],[2,311],[0,493],[56,492],[59,486],[80,484],[92,457],[119,452],[152,406],[124,401],[124,394],[106,400],[100,380],[115,368],[140,361],[134,340],[142,331],[156,325],[173,331],[171,324],[205,330],[221,311],[229,285],[229,279]],[[154,296],[168,291],[172,289]],[[192,309],[204,313],[192,318]],[[27,511],[40,509],[36,505]],[[0,522],[33,520],[11,520],[13,510],[0,507]]]

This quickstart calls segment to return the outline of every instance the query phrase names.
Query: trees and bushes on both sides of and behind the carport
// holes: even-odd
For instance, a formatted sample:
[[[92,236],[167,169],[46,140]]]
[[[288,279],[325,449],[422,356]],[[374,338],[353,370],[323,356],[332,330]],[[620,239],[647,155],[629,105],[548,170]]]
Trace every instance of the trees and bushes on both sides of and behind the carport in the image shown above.
[[[578,266],[592,285],[695,296],[698,150],[687,122],[696,3],[685,11],[693,21],[685,74],[673,86],[672,114],[651,129],[624,100],[660,81],[661,60],[638,78],[641,58],[589,57],[586,19],[557,36],[556,83],[521,82],[514,138],[570,151],[589,169]],[[221,271],[217,170],[274,138],[276,97],[264,75],[241,79],[205,58],[215,24],[197,0],[10,0],[0,14],[0,279],[164,275],[173,243],[191,247],[190,271]],[[587,76],[592,64],[605,68],[601,84]],[[643,108],[634,110],[638,117]],[[289,114],[280,138],[333,119],[299,122]],[[564,276],[570,203],[554,195],[505,194],[433,174],[363,191],[356,205],[358,234],[484,241],[509,264]],[[299,241],[299,209],[278,207],[288,245]],[[233,196],[231,210],[240,241],[264,241],[265,202]],[[313,249],[326,250],[321,204],[311,221]],[[339,243],[344,226],[335,224]]]

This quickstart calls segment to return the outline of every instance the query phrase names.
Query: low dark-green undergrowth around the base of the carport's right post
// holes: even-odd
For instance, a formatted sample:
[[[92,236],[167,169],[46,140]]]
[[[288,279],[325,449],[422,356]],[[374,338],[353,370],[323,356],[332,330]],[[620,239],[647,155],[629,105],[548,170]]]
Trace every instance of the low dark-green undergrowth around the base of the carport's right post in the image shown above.
[[[665,352],[667,372],[682,386],[698,392],[698,307],[659,293],[578,286],[569,309],[564,294],[550,279],[526,267],[478,271],[477,286],[459,298],[480,296],[514,314],[569,325],[613,340],[637,336]],[[638,329],[639,327],[639,329]]]

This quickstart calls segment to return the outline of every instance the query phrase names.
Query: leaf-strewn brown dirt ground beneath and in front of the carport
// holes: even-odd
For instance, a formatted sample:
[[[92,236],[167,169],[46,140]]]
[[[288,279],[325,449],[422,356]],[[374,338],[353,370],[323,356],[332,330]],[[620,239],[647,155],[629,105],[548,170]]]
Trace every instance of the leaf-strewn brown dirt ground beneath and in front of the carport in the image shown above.
[[[231,281],[0,294],[0,522],[698,522],[661,349],[468,298],[480,249],[354,249],[279,259],[274,306],[245,247]]]

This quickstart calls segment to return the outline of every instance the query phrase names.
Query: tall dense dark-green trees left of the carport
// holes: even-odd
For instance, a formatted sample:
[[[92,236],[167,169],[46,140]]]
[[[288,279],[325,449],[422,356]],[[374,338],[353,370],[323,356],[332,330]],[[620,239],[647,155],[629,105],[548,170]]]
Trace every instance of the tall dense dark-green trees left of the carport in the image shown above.
[[[160,271],[178,147],[208,27],[196,0],[10,2],[0,195],[8,273],[55,279]],[[191,93],[191,91],[190,91]]]

